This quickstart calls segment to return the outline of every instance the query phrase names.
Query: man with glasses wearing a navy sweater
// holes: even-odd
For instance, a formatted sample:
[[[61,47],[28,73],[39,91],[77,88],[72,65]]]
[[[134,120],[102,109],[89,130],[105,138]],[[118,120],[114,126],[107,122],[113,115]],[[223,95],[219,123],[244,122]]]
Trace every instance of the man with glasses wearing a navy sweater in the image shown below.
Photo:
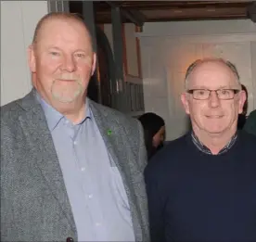
[[[194,62],[181,99],[192,132],[145,170],[152,241],[256,241],[256,137],[237,132],[245,93],[224,59]]]

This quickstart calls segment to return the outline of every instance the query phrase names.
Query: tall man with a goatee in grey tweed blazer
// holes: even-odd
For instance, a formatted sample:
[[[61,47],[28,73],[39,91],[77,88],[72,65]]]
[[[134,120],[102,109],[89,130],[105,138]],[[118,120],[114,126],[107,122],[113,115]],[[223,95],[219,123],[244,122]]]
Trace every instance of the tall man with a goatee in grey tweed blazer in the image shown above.
[[[28,53],[32,92],[1,108],[1,241],[148,241],[143,131],[86,97],[83,20],[46,15]]]

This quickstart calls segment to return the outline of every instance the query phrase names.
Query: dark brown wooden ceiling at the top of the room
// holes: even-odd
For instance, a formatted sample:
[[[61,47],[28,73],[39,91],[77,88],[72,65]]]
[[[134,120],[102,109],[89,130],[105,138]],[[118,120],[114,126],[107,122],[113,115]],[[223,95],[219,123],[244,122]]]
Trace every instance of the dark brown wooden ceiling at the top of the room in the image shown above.
[[[255,1],[95,1],[96,23],[111,22],[111,6],[119,6],[122,22],[249,19],[248,10]],[[255,5],[256,6],[256,5]],[[80,12],[81,1],[70,1],[70,11]],[[255,10],[255,8],[253,8]],[[253,13],[254,13],[253,10]],[[256,12],[256,11],[255,11]],[[142,25],[142,24],[141,24]]]

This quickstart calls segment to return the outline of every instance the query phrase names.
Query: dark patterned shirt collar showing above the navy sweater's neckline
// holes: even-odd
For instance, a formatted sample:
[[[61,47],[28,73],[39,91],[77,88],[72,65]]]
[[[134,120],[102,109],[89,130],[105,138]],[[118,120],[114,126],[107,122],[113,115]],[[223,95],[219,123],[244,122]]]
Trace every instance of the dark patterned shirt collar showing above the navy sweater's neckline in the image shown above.
[[[197,135],[196,135],[194,132],[191,132],[191,137],[192,137],[193,143],[195,144],[195,146],[198,147],[198,149],[199,149],[201,152],[211,155],[211,150],[210,150],[207,146],[203,145],[203,144],[199,141]],[[226,151],[228,151],[232,146],[235,145],[236,141],[237,141],[237,133],[232,136],[232,138],[230,139],[230,141],[221,149],[221,151],[220,151],[217,155],[224,154],[224,153],[225,153]]]

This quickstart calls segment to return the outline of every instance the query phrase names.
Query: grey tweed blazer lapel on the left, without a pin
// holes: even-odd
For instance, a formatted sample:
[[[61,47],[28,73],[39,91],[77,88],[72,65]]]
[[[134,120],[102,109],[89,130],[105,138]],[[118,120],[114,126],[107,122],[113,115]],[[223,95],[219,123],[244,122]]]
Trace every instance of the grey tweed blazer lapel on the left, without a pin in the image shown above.
[[[63,175],[58,162],[57,152],[48,130],[45,114],[41,105],[37,103],[34,97],[34,90],[19,103],[20,107],[25,109],[19,121],[24,134],[30,142],[33,160],[41,170],[45,182],[54,197],[58,200],[59,206],[70,222],[70,227],[77,236],[76,227],[70,207],[70,200],[66,191]]]

